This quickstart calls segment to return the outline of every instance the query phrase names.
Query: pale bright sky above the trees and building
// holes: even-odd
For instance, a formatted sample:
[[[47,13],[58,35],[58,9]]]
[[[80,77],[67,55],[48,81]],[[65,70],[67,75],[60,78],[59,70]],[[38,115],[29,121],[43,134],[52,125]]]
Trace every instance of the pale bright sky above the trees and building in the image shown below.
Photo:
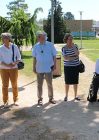
[[[0,0],[0,16],[6,17],[6,5],[13,0]],[[83,11],[82,19],[93,19],[99,21],[99,0],[59,0],[63,12],[71,12],[75,19],[80,19],[79,11]],[[50,9],[50,0],[25,0],[29,6],[29,12],[33,14],[37,7],[43,8],[43,13],[38,14],[38,19],[46,18]]]

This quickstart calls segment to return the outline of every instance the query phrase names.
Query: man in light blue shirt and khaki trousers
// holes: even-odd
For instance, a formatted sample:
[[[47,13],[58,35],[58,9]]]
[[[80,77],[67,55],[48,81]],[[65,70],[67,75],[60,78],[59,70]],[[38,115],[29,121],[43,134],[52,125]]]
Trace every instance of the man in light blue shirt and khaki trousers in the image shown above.
[[[56,49],[54,44],[46,41],[45,32],[37,32],[37,43],[32,50],[34,57],[33,71],[37,73],[38,104],[42,105],[42,85],[44,78],[48,85],[49,102],[55,104],[53,100],[52,70],[56,68]]]

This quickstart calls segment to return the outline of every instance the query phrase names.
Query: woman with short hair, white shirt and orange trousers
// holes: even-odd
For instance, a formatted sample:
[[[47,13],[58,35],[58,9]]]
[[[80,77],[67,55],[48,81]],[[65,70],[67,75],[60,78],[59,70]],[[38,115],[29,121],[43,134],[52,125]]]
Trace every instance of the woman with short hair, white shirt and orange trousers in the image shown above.
[[[18,68],[17,64],[21,60],[21,55],[18,47],[15,44],[12,44],[12,35],[10,33],[1,34],[3,45],[0,46],[0,71],[2,79],[2,94],[4,107],[8,106],[8,86],[9,80],[12,84],[13,92],[13,101],[14,104],[17,104],[18,101]],[[14,47],[14,62],[13,62],[13,51],[12,46]],[[17,57],[17,60],[16,60]]]

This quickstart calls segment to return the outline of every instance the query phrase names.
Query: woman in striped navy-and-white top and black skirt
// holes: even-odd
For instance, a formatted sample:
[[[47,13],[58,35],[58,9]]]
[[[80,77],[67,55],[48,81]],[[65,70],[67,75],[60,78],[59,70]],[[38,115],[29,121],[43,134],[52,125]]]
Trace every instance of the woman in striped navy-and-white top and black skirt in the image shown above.
[[[77,97],[77,89],[79,82],[79,50],[77,45],[73,43],[73,37],[71,34],[64,36],[64,42],[66,45],[62,48],[62,55],[64,57],[64,77],[65,77],[65,91],[66,96],[64,101],[68,100],[69,86],[73,85],[75,100],[80,100]]]

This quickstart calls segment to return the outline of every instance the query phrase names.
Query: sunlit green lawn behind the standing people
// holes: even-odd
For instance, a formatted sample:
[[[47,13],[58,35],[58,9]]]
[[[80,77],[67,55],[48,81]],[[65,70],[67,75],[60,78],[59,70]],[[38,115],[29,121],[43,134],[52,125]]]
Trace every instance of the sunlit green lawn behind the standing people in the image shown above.
[[[74,40],[74,43],[76,43],[80,48],[80,40]],[[99,40],[82,40],[82,46],[83,49],[81,49],[80,51],[92,61],[95,62],[96,59],[99,58]],[[62,46],[60,45],[60,47]],[[63,72],[63,57],[61,52],[58,52],[58,55],[61,55],[61,69]],[[35,74],[32,71],[33,58],[31,55],[31,51],[23,52],[23,61],[25,63],[25,68],[21,70],[21,72],[24,73],[26,76],[35,77]]]

